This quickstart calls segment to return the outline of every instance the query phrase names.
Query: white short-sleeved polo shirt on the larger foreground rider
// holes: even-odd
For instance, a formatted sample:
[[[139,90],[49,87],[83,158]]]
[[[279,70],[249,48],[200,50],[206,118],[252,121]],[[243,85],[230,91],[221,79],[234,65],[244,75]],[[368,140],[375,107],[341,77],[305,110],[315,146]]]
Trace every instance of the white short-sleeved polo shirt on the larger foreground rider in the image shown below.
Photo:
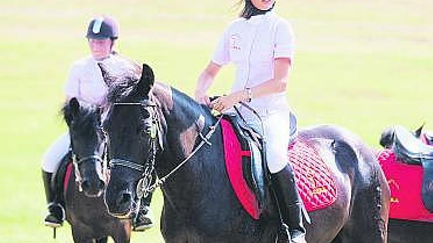
[[[270,11],[233,21],[219,40],[212,61],[235,64],[232,91],[239,91],[274,78],[275,59],[288,57],[293,62],[293,51],[291,25]],[[253,99],[250,105],[257,109],[287,108],[286,92]]]

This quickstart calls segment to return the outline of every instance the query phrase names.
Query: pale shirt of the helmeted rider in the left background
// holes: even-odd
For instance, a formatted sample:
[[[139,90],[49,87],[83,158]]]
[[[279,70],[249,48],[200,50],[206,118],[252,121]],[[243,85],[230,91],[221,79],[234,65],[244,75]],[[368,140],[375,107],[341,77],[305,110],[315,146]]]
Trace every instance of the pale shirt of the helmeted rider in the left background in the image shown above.
[[[88,103],[102,105],[108,86],[102,78],[99,62],[104,64],[110,74],[119,74],[131,68],[131,63],[117,54],[111,54],[101,61],[95,60],[92,55],[86,56],[72,64],[64,87],[66,99],[76,97]]]

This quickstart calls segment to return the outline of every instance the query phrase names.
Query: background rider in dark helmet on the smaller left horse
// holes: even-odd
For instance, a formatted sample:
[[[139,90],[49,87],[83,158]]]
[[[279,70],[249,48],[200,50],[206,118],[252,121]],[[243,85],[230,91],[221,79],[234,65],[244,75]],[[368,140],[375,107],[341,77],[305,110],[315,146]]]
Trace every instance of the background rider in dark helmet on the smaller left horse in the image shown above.
[[[66,101],[76,97],[78,100],[103,106],[106,101],[108,84],[102,78],[98,63],[110,68],[110,72],[123,72],[130,65],[129,60],[120,57],[113,51],[115,40],[119,36],[119,28],[112,18],[100,16],[89,23],[86,38],[91,54],[73,63],[65,84]],[[130,66],[129,66],[130,67]],[[70,146],[69,134],[59,137],[47,150],[42,161],[42,178],[48,203],[48,215],[44,224],[50,227],[62,226],[64,209],[57,202],[61,192],[51,187],[50,181],[62,158],[68,153]],[[133,221],[134,230],[141,231],[152,227],[153,219],[149,204],[151,197],[143,201],[143,209]]]

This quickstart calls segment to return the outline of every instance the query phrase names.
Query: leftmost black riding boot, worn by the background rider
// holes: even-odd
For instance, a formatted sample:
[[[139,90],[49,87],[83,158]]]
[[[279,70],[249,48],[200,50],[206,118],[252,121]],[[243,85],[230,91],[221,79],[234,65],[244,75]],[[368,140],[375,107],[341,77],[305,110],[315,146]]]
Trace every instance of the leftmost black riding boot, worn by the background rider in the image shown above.
[[[51,186],[53,173],[42,170],[42,181],[44,182],[45,197],[48,204],[48,215],[45,217],[45,226],[60,227],[64,221],[64,209],[57,200],[57,191]]]

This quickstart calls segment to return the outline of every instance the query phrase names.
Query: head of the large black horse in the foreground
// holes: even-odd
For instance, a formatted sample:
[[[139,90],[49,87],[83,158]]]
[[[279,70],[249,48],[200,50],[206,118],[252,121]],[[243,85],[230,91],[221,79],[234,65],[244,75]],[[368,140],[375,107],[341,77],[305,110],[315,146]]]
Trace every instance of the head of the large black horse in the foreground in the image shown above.
[[[103,74],[106,76],[106,71]],[[138,82],[118,85],[109,94],[110,108],[103,124],[111,172],[105,203],[114,216],[128,217],[138,210],[137,199],[142,195],[137,185],[151,183],[161,134],[151,94],[154,81],[152,69],[144,64]]]

